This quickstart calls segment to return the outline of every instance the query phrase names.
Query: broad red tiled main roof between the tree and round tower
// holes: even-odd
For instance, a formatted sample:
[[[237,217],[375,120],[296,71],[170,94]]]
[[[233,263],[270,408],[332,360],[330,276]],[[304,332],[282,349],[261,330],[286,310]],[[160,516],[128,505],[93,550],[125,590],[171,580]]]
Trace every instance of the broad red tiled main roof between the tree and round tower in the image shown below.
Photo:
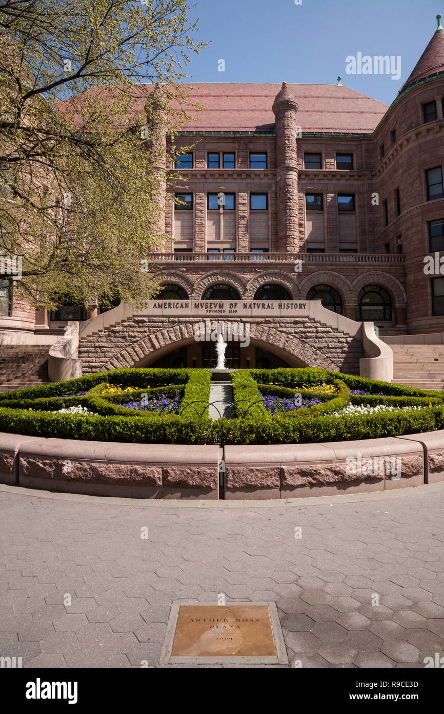
[[[267,131],[281,84],[187,84],[189,101],[204,106],[181,131]],[[148,89],[148,87],[147,87]],[[150,86],[150,91],[152,86]],[[381,101],[336,84],[289,84],[302,131],[371,133],[388,109]]]

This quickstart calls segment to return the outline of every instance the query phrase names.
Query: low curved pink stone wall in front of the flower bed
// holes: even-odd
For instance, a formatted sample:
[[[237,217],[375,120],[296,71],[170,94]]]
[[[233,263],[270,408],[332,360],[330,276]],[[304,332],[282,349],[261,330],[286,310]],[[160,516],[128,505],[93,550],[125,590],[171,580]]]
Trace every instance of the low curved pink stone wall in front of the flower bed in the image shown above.
[[[0,433],[1,483],[93,496],[306,498],[437,481],[444,481],[444,431],[224,449]]]

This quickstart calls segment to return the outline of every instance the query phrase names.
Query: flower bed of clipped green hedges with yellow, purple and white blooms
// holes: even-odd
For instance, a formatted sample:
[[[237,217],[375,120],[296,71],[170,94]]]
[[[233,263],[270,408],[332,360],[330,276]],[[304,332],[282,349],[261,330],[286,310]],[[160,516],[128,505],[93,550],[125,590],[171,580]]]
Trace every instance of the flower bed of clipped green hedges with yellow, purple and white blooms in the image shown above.
[[[234,418],[212,421],[207,370],[86,375],[1,393],[0,431],[126,443],[292,444],[444,426],[440,392],[320,369],[239,370],[232,383]]]

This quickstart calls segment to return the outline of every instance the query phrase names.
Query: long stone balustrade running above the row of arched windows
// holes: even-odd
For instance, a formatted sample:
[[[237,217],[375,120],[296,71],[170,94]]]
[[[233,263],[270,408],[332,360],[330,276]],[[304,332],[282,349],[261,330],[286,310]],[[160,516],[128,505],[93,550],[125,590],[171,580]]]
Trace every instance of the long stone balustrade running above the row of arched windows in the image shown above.
[[[403,263],[398,253],[150,253],[158,263]]]

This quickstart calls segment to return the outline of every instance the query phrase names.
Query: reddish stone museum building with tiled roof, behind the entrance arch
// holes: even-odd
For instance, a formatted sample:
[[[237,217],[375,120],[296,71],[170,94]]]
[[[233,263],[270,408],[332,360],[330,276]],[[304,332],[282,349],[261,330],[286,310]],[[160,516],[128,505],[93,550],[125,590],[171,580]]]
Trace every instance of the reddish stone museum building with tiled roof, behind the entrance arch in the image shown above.
[[[167,167],[182,181],[165,196],[170,239],[152,256],[158,299],[321,300],[350,320],[373,321],[383,338],[443,332],[443,97],[440,16],[389,107],[340,78],[192,85],[203,109],[182,127],[177,164]],[[3,313],[0,331],[60,334],[66,318],[93,318],[97,308],[35,315],[13,297]],[[91,342],[82,350],[91,357]],[[249,364],[289,363],[278,352],[262,344]],[[150,363],[207,366],[214,353],[189,344],[155,357]]]

